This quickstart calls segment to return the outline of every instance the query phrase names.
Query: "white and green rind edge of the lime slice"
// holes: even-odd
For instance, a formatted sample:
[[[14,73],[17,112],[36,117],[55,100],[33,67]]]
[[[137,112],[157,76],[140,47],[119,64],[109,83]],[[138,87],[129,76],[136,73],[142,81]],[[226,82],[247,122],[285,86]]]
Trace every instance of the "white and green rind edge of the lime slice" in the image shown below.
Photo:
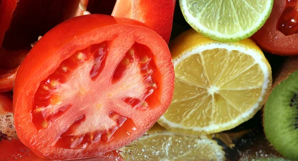
[[[266,20],[269,18],[270,13],[272,11],[272,7],[273,7],[273,2],[274,2],[274,0],[268,0],[265,10],[261,14],[259,14],[259,18],[257,19],[257,21],[254,23],[253,26],[249,27],[248,29],[244,29],[240,32],[234,32],[233,34],[222,34],[218,31],[215,31],[215,28],[212,28],[212,27],[207,28],[206,26],[199,23],[198,20],[196,19],[196,17],[194,17],[192,15],[194,13],[191,13],[190,10],[188,9],[187,1],[189,1],[189,0],[179,0],[182,14],[183,14],[185,20],[187,21],[187,23],[192,28],[194,28],[197,32],[201,33],[202,35],[210,37],[213,40],[224,41],[224,42],[239,41],[239,40],[243,40],[245,38],[252,36],[255,32],[257,32],[265,24]],[[210,0],[209,4],[212,1],[214,1],[214,0]],[[231,0],[231,2],[232,1],[233,0]],[[245,0],[244,0],[244,2],[245,2]],[[209,13],[209,14],[212,14],[212,13]],[[247,14],[249,14],[249,13],[247,13]],[[239,16],[239,15],[237,15],[237,16]],[[242,16],[246,16],[246,15],[242,15]],[[204,19],[204,21],[206,21],[206,20]],[[211,21],[212,23],[217,23],[216,20],[214,20],[214,19],[209,20],[209,21]],[[245,27],[245,26],[243,26],[243,27]],[[240,25],[240,28],[242,28],[241,25]],[[218,30],[218,29],[216,29],[216,30]]]

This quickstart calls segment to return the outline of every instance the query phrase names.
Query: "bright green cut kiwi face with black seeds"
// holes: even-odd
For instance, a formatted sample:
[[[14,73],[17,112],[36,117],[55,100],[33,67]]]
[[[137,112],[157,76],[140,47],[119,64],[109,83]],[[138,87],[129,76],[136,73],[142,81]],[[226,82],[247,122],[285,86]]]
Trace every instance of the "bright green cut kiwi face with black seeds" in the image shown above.
[[[283,156],[298,160],[298,71],[272,90],[264,110],[264,131]]]

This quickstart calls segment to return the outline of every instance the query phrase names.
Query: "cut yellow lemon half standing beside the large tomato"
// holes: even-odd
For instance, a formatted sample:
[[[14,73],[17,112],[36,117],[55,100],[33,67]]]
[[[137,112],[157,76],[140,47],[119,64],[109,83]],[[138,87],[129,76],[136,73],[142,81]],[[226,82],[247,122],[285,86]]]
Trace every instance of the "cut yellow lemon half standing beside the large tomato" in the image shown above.
[[[171,105],[157,121],[171,131],[211,134],[236,127],[264,104],[271,67],[250,39],[217,42],[190,29],[170,51],[175,70]]]

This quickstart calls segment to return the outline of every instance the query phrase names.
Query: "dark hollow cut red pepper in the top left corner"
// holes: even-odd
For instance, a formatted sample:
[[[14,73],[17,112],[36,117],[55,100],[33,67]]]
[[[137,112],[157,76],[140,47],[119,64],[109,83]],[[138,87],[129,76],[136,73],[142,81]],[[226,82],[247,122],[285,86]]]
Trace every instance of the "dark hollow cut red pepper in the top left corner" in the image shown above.
[[[65,19],[82,15],[87,4],[88,0],[0,1],[0,92],[12,89],[30,44]]]

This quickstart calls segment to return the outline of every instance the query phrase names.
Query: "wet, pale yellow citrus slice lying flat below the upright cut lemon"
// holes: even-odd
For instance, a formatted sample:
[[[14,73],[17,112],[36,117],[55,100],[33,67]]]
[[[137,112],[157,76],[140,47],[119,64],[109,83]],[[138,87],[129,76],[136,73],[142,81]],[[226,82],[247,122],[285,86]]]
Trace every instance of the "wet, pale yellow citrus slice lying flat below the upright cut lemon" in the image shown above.
[[[154,128],[154,126],[153,126]],[[126,161],[224,161],[223,147],[206,136],[149,132],[119,150]]]

